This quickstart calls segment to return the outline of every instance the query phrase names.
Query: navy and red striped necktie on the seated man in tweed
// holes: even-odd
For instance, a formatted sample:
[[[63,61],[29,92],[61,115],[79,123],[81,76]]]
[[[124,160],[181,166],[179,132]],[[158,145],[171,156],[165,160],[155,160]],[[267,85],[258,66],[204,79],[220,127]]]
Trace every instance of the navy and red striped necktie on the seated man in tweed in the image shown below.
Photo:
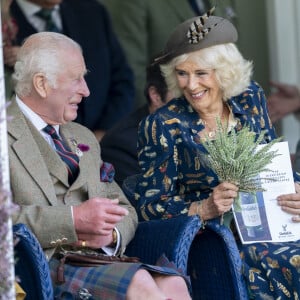
[[[53,126],[47,125],[45,128],[43,128],[43,131],[51,136],[56,148],[56,152],[67,165],[69,184],[71,185],[75,181],[79,173],[78,156],[68,148],[64,141],[58,136]]]

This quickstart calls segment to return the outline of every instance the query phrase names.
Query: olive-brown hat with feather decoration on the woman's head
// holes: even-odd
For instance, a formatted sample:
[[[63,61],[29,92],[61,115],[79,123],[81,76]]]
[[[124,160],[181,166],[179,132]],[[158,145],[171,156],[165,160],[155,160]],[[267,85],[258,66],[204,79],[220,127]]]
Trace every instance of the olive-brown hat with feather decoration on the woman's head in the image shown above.
[[[237,30],[227,19],[212,16],[210,10],[179,24],[170,35],[162,54],[155,63],[167,63],[181,54],[219,44],[235,43]]]

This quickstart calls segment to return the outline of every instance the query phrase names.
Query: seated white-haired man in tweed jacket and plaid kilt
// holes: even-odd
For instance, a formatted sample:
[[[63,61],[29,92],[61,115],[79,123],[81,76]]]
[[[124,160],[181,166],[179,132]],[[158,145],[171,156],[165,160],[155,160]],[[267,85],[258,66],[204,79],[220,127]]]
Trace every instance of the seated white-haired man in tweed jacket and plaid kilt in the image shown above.
[[[72,121],[89,95],[80,46],[65,35],[31,35],[15,64],[16,100],[8,108],[11,190],[25,223],[37,236],[54,293],[93,299],[190,299],[172,269],[141,263],[81,268],[65,265],[65,283],[55,284],[57,252],[75,247],[123,254],[137,226],[134,209],[115,182],[100,182],[101,158],[94,135]],[[151,269],[151,274],[147,270]]]

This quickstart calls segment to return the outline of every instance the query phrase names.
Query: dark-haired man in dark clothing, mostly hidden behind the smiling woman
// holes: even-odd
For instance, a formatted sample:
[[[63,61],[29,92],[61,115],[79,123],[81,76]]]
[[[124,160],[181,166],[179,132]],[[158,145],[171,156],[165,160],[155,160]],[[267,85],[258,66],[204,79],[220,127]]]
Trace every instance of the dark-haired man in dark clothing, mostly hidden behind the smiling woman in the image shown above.
[[[101,157],[113,164],[119,186],[126,177],[140,173],[136,148],[140,121],[172,99],[158,64],[148,66],[146,81],[144,95],[147,103],[108,130],[100,142]]]

